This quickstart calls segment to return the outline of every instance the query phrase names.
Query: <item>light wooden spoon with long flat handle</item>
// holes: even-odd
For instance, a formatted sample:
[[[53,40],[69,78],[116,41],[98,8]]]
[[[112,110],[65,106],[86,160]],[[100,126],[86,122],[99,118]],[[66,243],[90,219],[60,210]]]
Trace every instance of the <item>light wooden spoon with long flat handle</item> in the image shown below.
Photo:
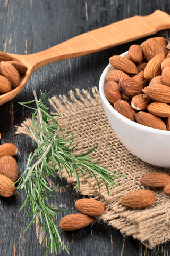
[[[148,16],[134,16],[84,33],[42,52],[30,55],[10,54],[14,60],[20,60],[27,66],[28,70],[21,77],[21,83],[18,87],[0,96],[0,105],[13,99],[21,92],[32,73],[44,65],[101,51],[153,35],[159,30],[168,28],[170,28],[170,16],[165,12],[156,10]]]

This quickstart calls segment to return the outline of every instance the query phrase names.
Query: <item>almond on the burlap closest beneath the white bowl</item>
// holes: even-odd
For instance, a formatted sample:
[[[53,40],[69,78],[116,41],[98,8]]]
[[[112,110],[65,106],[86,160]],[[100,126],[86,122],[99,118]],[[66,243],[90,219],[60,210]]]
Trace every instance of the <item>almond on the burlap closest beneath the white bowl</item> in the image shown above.
[[[143,175],[140,182],[149,188],[164,188],[170,182],[170,176],[162,172],[151,172]]]

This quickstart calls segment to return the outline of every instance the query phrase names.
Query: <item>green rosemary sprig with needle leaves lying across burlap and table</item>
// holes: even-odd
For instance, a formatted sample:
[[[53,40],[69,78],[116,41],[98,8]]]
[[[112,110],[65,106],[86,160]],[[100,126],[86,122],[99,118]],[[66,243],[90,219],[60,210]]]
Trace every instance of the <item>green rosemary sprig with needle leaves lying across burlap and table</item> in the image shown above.
[[[97,146],[91,148],[86,153],[74,156],[72,151],[75,147],[77,147],[78,144],[71,146],[73,142],[73,134],[71,140],[66,139],[68,135],[65,135],[64,130],[61,129],[55,118],[60,115],[60,113],[54,115],[48,114],[48,108],[46,105],[44,105],[45,93],[41,92],[41,98],[39,100],[37,99],[36,92],[34,91],[33,93],[35,100],[20,104],[29,107],[27,104],[36,102],[37,108],[32,108],[35,110],[35,113],[32,114],[33,129],[30,128],[30,131],[33,138],[37,142],[38,148],[34,154],[31,153],[29,155],[26,170],[19,178],[19,185],[16,189],[20,191],[20,189],[24,188],[25,192],[27,193],[27,198],[21,206],[20,211],[23,209],[23,207],[29,205],[27,217],[29,217],[31,214],[33,215],[32,221],[29,223],[25,231],[29,229],[29,227],[35,222],[36,217],[38,216],[38,225],[40,222],[44,223],[43,230],[45,230],[45,235],[40,246],[44,242],[48,229],[50,238],[45,254],[48,249],[50,249],[51,253],[55,251],[57,254],[58,246],[60,246],[63,250],[65,249],[67,251],[67,249],[63,244],[58,232],[56,226],[56,223],[58,222],[55,222],[54,218],[57,212],[68,211],[54,209],[54,207],[45,203],[46,198],[53,197],[48,195],[48,193],[55,190],[48,186],[46,178],[47,175],[50,174],[55,177],[55,168],[57,165],[60,178],[62,179],[62,170],[65,168],[69,178],[72,177],[72,173],[75,173],[77,177],[78,189],[80,189],[80,175],[78,171],[80,171],[82,176],[84,176],[84,173],[88,172],[90,178],[95,177],[100,191],[100,185],[96,177],[97,174],[105,183],[108,194],[109,186],[111,188],[117,186],[113,178],[124,175],[111,172],[105,167],[97,164],[97,162],[91,162],[91,156],[89,154]],[[36,129],[40,132],[39,137],[37,135]],[[59,131],[63,132],[61,136],[58,135]],[[33,159],[35,158],[36,162],[32,163]],[[49,190],[49,192],[46,192],[46,189]],[[69,251],[67,251],[67,253],[69,253]]]

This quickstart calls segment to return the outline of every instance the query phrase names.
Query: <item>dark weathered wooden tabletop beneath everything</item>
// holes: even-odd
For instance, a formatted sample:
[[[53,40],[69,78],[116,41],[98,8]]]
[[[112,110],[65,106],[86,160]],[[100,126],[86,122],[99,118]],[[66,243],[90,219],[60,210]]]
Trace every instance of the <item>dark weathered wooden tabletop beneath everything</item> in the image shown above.
[[[103,27],[110,23],[132,17],[148,15],[155,10],[170,14],[170,1],[167,0],[1,0],[0,2],[0,51],[16,54],[31,54],[43,51],[62,43],[79,34]],[[128,28],[127,28],[128,29]],[[169,30],[159,31],[154,36],[169,39]],[[25,118],[29,118],[31,110],[18,102],[33,99],[33,89],[40,95],[46,90],[46,99],[53,95],[65,94],[69,90],[90,89],[98,87],[99,77],[108,59],[127,51],[131,44],[140,44],[145,39],[123,44],[113,49],[90,54],[75,59],[63,60],[38,69],[31,76],[24,90],[13,100],[0,106],[1,144],[14,143],[18,146],[15,159],[19,166],[19,175],[25,168],[29,153],[35,149],[35,143],[24,135],[15,135],[15,125],[19,126]],[[54,206],[78,213],[74,202],[81,195],[72,187],[66,188],[66,181],[60,182]],[[41,240],[40,228],[36,223],[25,233],[30,218],[19,209],[25,199],[21,191],[10,198],[0,197],[0,255],[43,255],[44,246],[38,249]],[[58,221],[66,213],[58,214]],[[73,232],[60,230],[61,237],[70,251],[71,256],[149,256],[169,255],[170,242],[156,249],[148,250],[132,237],[123,237],[107,223],[95,223]],[[47,252],[46,255],[50,255]],[[65,251],[58,250],[57,255],[65,256]]]

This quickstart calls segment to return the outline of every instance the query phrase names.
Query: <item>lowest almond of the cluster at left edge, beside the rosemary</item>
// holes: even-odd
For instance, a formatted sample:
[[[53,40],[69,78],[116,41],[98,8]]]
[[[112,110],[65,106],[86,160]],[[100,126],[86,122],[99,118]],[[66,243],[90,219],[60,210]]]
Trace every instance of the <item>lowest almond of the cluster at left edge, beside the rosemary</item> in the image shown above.
[[[10,197],[15,194],[15,185],[8,177],[0,174],[0,196]],[[12,186],[13,185],[13,186]],[[12,186],[12,187],[11,187]],[[11,188],[10,188],[11,187]]]

